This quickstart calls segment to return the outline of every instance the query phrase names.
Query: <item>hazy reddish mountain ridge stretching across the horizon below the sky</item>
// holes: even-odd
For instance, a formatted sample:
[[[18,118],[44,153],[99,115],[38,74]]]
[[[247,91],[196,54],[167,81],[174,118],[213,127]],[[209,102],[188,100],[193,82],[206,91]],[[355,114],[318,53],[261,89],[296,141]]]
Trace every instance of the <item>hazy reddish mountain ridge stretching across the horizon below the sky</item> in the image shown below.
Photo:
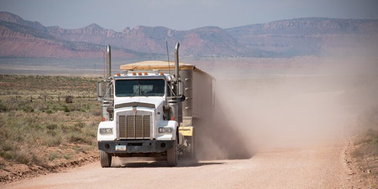
[[[55,37],[54,40],[64,41],[63,44],[110,44],[134,54],[165,54],[165,41],[169,46],[173,46],[176,41],[182,43],[181,54],[187,56],[251,57],[319,55],[339,51],[350,45],[357,48],[378,44],[378,20],[369,19],[296,18],[227,29],[206,26],[188,31],[137,26],[132,29],[126,27],[121,32],[102,28],[95,23],[78,29],[44,27],[39,22],[26,21],[7,12],[0,12],[0,21],[1,30],[5,27],[4,22],[14,23],[30,28],[34,33],[35,30],[39,31],[42,38]],[[12,29],[8,28],[7,32],[10,31]],[[26,29],[24,32],[27,32]],[[0,42],[3,40],[5,38],[1,35]],[[13,42],[17,44],[17,40]],[[5,48],[5,43],[2,44],[1,49]],[[91,45],[87,46],[90,51]],[[6,55],[2,53],[0,56]]]

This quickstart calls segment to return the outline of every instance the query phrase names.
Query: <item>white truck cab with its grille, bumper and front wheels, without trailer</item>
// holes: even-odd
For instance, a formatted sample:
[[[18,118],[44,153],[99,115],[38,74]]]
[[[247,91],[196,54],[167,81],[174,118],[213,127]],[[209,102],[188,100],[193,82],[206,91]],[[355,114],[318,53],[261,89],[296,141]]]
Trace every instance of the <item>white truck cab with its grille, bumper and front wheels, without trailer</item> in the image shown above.
[[[170,149],[176,152],[173,159],[167,159],[168,164],[177,164],[178,123],[169,106],[177,101],[169,98],[170,82],[171,76],[163,73],[134,72],[113,77],[114,118],[101,122],[97,132],[100,158],[102,153],[106,160],[101,163],[103,167],[110,166],[111,156],[168,158]]]

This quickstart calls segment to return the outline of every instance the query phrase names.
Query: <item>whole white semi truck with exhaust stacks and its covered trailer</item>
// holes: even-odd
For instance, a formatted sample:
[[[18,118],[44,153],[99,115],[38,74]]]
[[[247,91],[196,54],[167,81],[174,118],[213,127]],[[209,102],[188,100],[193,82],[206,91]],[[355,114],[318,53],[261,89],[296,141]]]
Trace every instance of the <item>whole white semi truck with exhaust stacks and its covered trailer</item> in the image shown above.
[[[205,126],[214,108],[214,78],[194,65],[146,61],[121,65],[97,82],[101,122],[97,141],[102,167],[112,157],[164,157],[176,166],[179,156],[196,158],[196,127]]]

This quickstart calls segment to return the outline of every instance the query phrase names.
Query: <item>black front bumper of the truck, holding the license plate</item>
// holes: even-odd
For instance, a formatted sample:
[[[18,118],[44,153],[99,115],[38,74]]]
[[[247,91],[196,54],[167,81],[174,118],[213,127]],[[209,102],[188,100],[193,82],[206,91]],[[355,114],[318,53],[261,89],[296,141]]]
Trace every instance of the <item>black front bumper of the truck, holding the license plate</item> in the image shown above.
[[[98,141],[98,150],[106,153],[159,153],[173,148],[174,140],[120,140]],[[116,145],[125,145],[126,151],[116,151]]]

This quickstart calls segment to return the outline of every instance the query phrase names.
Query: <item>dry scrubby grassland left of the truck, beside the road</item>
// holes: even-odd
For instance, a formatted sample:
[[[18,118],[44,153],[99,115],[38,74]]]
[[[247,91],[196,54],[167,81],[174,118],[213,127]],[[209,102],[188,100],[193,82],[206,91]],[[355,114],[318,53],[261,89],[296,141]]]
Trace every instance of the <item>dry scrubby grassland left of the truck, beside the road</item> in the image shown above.
[[[93,98],[96,80],[0,75],[0,168],[48,166],[95,151],[100,114]],[[73,103],[65,103],[64,95],[73,95]]]

